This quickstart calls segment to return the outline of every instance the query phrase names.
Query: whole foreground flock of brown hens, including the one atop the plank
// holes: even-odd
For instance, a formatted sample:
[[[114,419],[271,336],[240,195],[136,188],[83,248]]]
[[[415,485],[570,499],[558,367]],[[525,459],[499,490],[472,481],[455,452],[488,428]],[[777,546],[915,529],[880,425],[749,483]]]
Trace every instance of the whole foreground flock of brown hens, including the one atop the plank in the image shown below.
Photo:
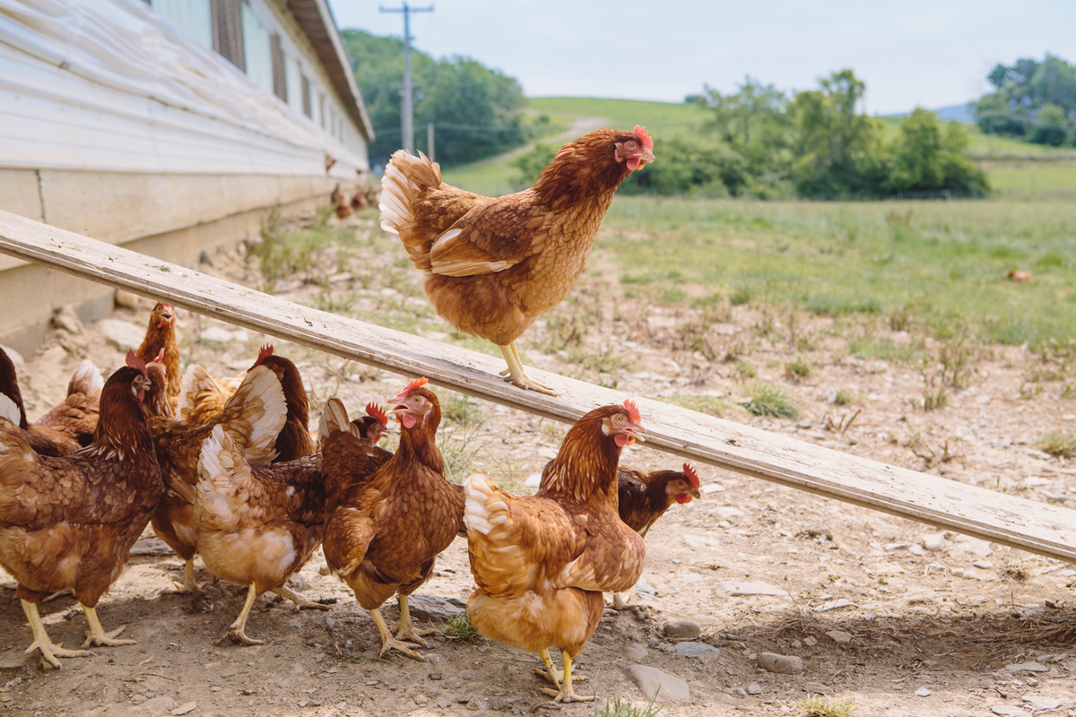
[[[555,395],[523,371],[515,340],[567,295],[590,254],[612,196],[654,160],[646,129],[597,130],[562,147],[536,184],[489,199],[440,180],[425,157],[394,155],[382,183],[382,227],[397,233],[426,275],[437,312],[461,331],[497,344],[506,379]],[[489,637],[538,653],[555,701],[587,700],[572,688],[571,660],[593,634],[603,592],[639,579],[642,536],[674,503],[699,496],[698,476],[620,465],[643,440],[632,401],[585,414],[567,432],[535,496],[512,496],[489,477],[464,485],[443,476],[437,448],[441,411],[425,378],[384,411],[350,419],[329,399],[316,435],[295,364],[263,347],[240,376],[181,375],[175,313],[158,303],[145,340],[107,382],[89,362],[68,398],[28,424],[15,369],[0,352],[0,565],[15,576],[33,631],[28,653],[59,668],[94,645],[125,645],[95,606],[118,577],[146,524],[186,563],[180,591],[198,591],[194,557],[213,575],[247,586],[224,637],[246,634],[257,596],[274,591],[296,610],[327,610],[287,587],[322,546],[381,633],[381,655],[416,660],[426,643],[408,596],[430,576],[457,535],[467,539],[477,588],[467,606]],[[399,422],[394,453],[379,447],[388,415]],[[71,589],[88,623],[82,649],[54,644],[39,605]],[[381,605],[399,598],[395,634]],[[563,671],[550,655],[562,654]]]

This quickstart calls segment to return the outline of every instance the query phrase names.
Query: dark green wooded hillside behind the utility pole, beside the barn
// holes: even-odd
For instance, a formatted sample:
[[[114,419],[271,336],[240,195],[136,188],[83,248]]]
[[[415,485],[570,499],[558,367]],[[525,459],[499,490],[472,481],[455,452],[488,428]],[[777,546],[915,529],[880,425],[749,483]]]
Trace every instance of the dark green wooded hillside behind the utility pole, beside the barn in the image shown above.
[[[370,163],[383,164],[402,146],[404,42],[362,30],[341,35],[374,129]],[[466,57],[435,60],[413,47],[411,77],[415,148],[429,154],[426,125],[439,126],[434,148],[442,166],[478,161],[526,141],[523,89],[514,77]]]

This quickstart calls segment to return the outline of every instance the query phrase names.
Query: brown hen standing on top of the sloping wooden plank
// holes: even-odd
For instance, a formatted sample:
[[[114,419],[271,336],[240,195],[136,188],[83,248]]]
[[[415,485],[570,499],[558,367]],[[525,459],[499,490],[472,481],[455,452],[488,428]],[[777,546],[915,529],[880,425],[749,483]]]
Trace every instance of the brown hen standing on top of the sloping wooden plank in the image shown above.
[[[381,228],[426,274],[437,313],[500,348],[506,381],[556,396],[524,373],[515,340],[568,295],[617,187],[652,150],[645,127],[599,129],[561,147],[529,189],[490,199],[443,184],[439,164],[400,149],[381,183]]]

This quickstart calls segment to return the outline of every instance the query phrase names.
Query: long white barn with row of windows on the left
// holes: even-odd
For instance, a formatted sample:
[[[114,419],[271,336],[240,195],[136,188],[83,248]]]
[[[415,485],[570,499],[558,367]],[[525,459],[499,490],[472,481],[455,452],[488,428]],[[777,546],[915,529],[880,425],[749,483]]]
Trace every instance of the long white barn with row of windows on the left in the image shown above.
[[[0,210],[168,261],[326,204],[373,137],[325,0],[0,5]],[[0,257],[0,340],[112,291]]]

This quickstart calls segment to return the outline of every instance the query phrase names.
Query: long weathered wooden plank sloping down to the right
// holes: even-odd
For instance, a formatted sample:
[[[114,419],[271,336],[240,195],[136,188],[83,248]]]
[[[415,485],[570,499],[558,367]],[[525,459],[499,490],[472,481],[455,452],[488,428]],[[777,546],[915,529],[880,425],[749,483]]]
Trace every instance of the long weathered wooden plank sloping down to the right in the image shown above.
[[[386,239],[385,241],[390,241]],[[0,212],[0,252],[336,356],[528,413],[574,422],[624,396],[528,368],[564,398],[504,383],[499,357],[478,354],[169,264]],[[646,445],[690,460],[1039,555],[1076,561],[1076,512],[831,450],[679,406],[637,399]]]

